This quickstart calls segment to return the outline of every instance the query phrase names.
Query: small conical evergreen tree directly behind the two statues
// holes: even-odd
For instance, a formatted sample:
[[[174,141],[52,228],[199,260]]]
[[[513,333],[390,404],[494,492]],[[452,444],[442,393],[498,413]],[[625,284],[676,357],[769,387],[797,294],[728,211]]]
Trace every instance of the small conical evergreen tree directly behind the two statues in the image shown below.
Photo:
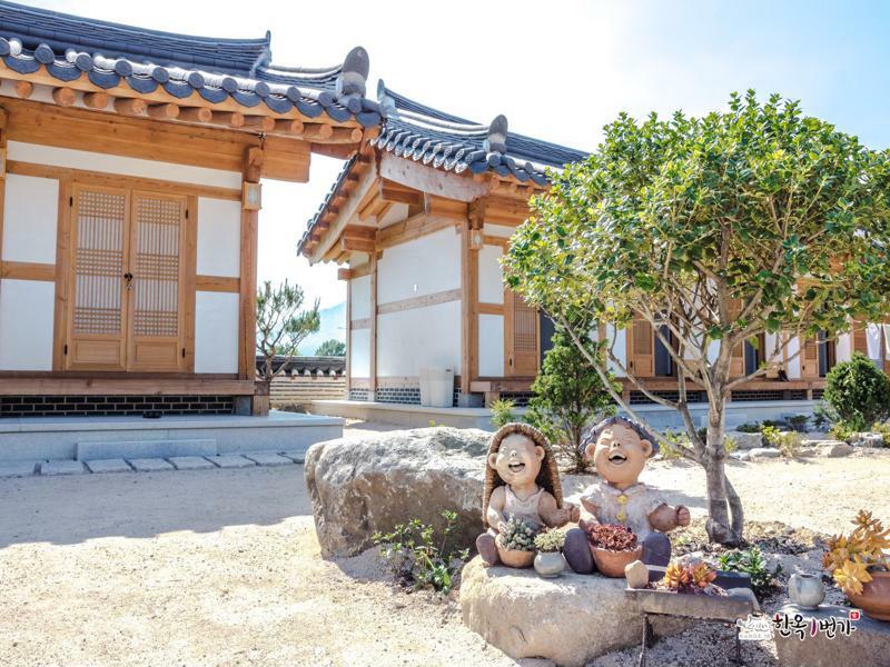
[[[591,346],[587,340],[584,344]],[[607,381],[621,390],[611,377]],[[553,442],[566,472],[589,471],[590,464],[578,451],[581,438],[592,422],[614,414],[615,401],[585,355],[564,331],[554,334],[553,347],[544,356],[532,391],[535,396],[528,401],[525,420]]]

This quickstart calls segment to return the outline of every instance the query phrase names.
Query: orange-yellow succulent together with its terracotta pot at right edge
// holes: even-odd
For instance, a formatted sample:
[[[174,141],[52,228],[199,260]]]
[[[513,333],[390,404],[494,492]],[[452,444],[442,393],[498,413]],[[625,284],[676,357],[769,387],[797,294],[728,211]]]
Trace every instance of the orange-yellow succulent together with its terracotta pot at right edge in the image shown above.
[[[859,510],[849,535],[828,540],[822,567],[853,605],[872,618],[890,620],[890,529],[866,510]]]

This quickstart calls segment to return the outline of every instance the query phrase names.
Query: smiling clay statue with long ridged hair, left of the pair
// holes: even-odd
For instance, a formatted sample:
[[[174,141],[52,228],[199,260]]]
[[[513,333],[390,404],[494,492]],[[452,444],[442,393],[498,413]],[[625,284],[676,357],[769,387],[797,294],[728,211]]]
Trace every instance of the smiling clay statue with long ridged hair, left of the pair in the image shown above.
[[[516,517],[535,528],[577,521],[580,510],[563,505],[560,472],[544,435],[527,424],[507,424],[488,444],[482,520],[486,532],[476,538],[482,560],[497,565],[495,538]]]

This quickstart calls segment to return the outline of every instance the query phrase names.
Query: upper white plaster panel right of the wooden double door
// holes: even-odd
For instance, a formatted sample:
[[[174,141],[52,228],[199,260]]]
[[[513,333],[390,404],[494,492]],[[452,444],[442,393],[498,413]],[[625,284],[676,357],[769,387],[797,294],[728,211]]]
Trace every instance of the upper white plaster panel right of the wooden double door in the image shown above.
[[[241,275],[241,203],[198,197],[198,275]]]

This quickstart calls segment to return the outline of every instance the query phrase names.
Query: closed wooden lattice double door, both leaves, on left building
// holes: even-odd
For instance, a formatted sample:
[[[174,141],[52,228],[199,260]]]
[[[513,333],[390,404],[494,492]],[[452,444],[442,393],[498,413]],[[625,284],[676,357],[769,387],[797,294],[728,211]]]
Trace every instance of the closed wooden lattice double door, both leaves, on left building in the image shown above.
[[[184,197],[75,186],[71,370],[185,365]]]

